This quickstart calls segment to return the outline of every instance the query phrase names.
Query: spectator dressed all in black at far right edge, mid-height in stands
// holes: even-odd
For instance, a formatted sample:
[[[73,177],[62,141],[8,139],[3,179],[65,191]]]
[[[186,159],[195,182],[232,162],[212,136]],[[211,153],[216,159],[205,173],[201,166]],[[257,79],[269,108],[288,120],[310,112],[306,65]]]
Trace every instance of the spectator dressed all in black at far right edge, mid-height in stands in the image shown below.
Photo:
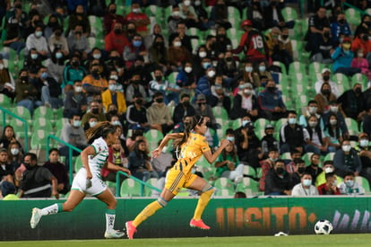
[[[341,94],[338,102],[341,104],[341,109],[344,111],[346,118],[359,121],[366,113],[365,99],[362,95],[362,84],[354,84],[352,89]]]

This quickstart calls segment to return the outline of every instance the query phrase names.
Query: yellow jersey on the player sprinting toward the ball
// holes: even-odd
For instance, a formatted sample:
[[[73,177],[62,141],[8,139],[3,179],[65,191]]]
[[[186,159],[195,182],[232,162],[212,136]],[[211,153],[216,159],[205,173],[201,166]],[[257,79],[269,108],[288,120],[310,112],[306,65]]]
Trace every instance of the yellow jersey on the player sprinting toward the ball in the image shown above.
[[[194,163],[197,162],[204,152],[209,150],[210,146],[206,137],[200,134],[190,133],[186,143],[180,147],[180,152],[177,155],[177,163],[174,165],[174,168],[185,174],[191,172]]]

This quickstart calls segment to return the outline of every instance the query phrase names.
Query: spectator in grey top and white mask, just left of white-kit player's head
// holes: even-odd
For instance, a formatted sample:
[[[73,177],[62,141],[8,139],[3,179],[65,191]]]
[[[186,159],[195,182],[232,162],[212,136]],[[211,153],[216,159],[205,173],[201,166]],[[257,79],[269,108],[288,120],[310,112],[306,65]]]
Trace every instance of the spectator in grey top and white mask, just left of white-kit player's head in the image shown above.
[[[88,142],[85,137],[85,132],[82,128],[82,121],[80,118],[80,114],[77,112],[73,112],[67,124],[64,125],[61,131],[60,139],[63,140],[65,143],[72,145],[74,147],[84,149]],[[65,156],[65,168],[69,171],[70,161],[69,161],[69,147],[68,146],[61,146],[59,148],[59,153],[62,156]],[[73,150],[73,156],[77,156],[80,153]]]

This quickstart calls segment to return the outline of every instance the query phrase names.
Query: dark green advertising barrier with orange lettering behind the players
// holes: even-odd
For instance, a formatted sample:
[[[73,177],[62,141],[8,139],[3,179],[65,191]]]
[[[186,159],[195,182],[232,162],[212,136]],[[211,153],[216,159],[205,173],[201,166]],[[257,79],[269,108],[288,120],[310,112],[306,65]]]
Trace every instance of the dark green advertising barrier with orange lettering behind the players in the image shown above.
[[[62,200],[0,201],[1,240],[99,239],[105,231],[105,204],[86,198],[71,213],[43,216],[30,229],[32,207]],[[117,198],[115,228],[122,230],[153,198]],[[210,231],[189,227],[195,198],[173,199],[138,228],[137,238],[314,234],[315,222],[328,219],[333,233],[369,233],[370,197],[213,198],[203,214]]]

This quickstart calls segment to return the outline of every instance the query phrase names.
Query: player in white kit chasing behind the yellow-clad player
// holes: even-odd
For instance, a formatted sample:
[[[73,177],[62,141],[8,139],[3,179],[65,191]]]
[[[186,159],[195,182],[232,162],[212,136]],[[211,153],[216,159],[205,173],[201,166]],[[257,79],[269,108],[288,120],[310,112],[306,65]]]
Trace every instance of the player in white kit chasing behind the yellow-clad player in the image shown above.
[[[30,218],[30,227],[32,229],[38,225],[41,216],[71,212],[86,194],[90,194],[107,204],[106,232],[104,236],[106,238],[120,238],[124,236],[123,232],[114,230],[116,198],[104,181],[100,180],[100,170],[104,165],[107,165],[110,170],[130,174],[130,171],[123,167],[107,163],[108,146],[113,145],[117,139],[115,129],[113,125],[105,121],[86,131],[86,137],[91,146],[86,147],[81,153],[83,167],[73,179],[69,197],[65,203],[56,203],[41,209],[34,207]]]

